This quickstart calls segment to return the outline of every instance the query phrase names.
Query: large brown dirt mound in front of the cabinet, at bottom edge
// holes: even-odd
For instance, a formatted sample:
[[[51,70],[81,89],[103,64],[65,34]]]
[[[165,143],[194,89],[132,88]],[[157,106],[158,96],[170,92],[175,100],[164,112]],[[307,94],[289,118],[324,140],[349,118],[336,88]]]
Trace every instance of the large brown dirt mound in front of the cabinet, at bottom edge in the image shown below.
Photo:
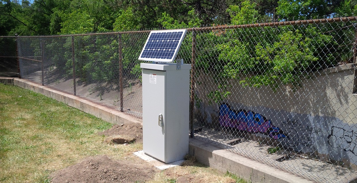
[[[52,183],[69,182],[145,182],[156,169],[149,164],[116,161],[107,156],[95,156],[50,174]]]

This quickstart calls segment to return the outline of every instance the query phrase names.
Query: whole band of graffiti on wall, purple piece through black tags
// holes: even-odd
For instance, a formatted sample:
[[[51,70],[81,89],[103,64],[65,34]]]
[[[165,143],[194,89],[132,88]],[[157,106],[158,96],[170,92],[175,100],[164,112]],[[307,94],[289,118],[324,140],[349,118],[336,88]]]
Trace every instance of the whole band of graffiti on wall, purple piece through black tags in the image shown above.
[[[283,115],[285,116],[285,115]],[[273,139],[279,139],[282,145],[292,148],[298,152],[321,151],[319,139],[327,136],[328,150],[341,149],[357,156],[357,131],[350,128],[332,126],[331,131],[327,132],[317,124],[316,127],[309,124],[316,124],[314,121],[305,120],[306,116],[296,116],[303,121],[287,118],[287,120],[272,124],[265,116],[244,109],[233,110],[228,104],[222,103],[219,106],[219,123],[222,127],[230,127],[239,131],[249,133],[260,133]],[[326,132],[325,132],[326,131]],[[326,144],[327,145],[327,144]],[[336,151],[339,152],[339,151]],[[320,152],[323,153],[323,152]]]

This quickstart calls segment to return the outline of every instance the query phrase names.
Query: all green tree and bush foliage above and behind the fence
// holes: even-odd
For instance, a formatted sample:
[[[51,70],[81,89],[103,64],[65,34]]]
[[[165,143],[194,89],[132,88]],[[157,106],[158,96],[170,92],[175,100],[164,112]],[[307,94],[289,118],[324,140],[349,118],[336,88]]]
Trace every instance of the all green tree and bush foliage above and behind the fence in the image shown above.
[[[129,1],[43,0],[19,4],[0,1],[1,34],[80,34],[85,32],[125,31],[164,28],[186,29],[203,24],[255,24],[261,21],[298,20],[357,14],[355,1],[331,3],[323,0],[241,0],[215,4],[199,0]],[[228,8],[227,8],[228,7]],[[41,10],[41,11],[37,11]],[[352,25],[351,22],[345,26]],[[10,28],[7,28],[9,26]],[[351,46],[340,46],[354,39],[354,30],[340,29],[342,23],[300,26],[256,27],[196,32],[198,74],[211,74],[217,88],[210,91],[211,102],[228,98],[232,79],[242,86],[300,85],[301,78],[337,62],[351,59]],[[75,72],[80,82],[116,83],[119,60],[123,73],[140,79],[140,51],[147,35],[85,36],[75,39]],[[29,45],[38,46],[37,43]],[[64,45],[64,46],[61,46]],[[47,42],[46,49],[62,47],[54,55],[57,70],[71,76],[71,39]],[[121,48],[122,55],[119,55]],[[33,56],[40,56],[34,49]],[[192,32],[187,32],[178,58],[191,62]],[[66,64],[60,61],[66,60]],[[84,62],[86,61],[86,62]]]

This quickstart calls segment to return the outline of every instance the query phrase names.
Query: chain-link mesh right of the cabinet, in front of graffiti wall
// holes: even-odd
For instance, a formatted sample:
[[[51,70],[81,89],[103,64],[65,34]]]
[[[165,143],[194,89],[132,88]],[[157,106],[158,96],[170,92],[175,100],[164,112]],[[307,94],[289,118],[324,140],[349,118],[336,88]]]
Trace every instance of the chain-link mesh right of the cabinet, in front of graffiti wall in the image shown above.
[[[356,22],[318,23],[196,31],[195,136],[311,181],[356,178]]]

